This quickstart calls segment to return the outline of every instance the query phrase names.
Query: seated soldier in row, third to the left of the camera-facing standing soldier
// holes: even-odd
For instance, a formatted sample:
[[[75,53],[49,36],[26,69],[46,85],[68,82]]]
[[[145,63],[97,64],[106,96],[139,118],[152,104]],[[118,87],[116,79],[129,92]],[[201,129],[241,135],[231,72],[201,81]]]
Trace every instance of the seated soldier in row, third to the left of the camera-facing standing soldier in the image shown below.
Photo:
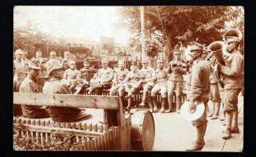
[[[126,99],[128,100],[127,109],[131,108],[134,93],[140,88],[140,71],[137,69],[137,62],[132,61],[130,64],[130,71],[126,75],[125,91],[127,92]]]

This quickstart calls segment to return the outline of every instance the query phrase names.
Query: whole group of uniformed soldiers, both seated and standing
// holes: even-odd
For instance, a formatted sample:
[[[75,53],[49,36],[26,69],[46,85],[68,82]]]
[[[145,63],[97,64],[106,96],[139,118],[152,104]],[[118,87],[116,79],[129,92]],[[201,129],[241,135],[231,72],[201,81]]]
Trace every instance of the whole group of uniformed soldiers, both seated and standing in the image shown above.
[[[208,116],[218,119],[219,110],[224,108],[226,131],[224,139],[229,139],[232,133],[239,133],[238,94],[243,86],[243,56],[239,52],[240,38],[226,36],[227,47],[225,64],[221,64],[214,57],[210,49],[199,43],[190,46],[192,60],[181,60],[181,50],[174,49],[174,60],[167,68],[163,60],[157,60],[157,68],[148,66],[148,60],[141,61],[142,68],[138,68],[137,61],[132,61],[130,70],[125,68],[125,60],[118,61],[118,68],[108,67],[108,60],[101,60],[101,69],[90,67],[90,60],[83,60],[84,68],[77,70],[75,60],[65,57],[56,58],[56,52],[50,52],[49,60],[42,59],[42,53],[37,52],[33,60],[27,60],[26,53],[16,49],[13,61],[13,91],[25,93],[66,93],[66,94],[102,94],[109,89],[109,95],[119,95],[123,104],[127,100],[126,109],[133,107],[134,95],[143,90],[141,107],[149,107],[149,111],[180,113],[182,87],[187,90],[189,112],[196,111],[196,102],[200,101],[208,108]],[[209,47],[208,47],[209,48]],[[185,76],[185,85],[183,80]],[[161,94],[161,108],[158,108],[156,95]],[[173,95],[175,93],[175,104]],[[174,108],[176,105],[176,108]],[[167,108],[166,108],[167,107]],[[14,109],[17,110],[17,106]],[[38,106],[21,105],[22,115],[28,118],[51,117],[57,122],[71,122],[91,118],[91,115],[80,108],[43,108]],[[207,130],[207,110],[203,115],[192,121],[196,126],[196,142],[188,151],[201,150],[205,144],[203,137]]]

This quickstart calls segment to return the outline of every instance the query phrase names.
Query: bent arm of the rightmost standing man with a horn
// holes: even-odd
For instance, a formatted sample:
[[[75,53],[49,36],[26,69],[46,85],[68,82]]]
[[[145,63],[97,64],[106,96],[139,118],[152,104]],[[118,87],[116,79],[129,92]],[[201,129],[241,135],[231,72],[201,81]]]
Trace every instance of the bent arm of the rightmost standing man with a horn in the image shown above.
[[[221,64],[219,65],[221,66],[221,73],[224,75],[240,76],[243,71],[243,57],[242,55],[234,56],[230,68]]]

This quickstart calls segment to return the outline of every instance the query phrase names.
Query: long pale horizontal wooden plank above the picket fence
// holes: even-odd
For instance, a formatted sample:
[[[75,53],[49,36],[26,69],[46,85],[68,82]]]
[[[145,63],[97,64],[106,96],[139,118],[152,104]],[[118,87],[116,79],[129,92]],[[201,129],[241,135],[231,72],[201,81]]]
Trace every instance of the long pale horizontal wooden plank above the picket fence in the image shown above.
[[[51,93],[13,93],[13,104],[71,108],[118,109],[118,96],[73,95]]]

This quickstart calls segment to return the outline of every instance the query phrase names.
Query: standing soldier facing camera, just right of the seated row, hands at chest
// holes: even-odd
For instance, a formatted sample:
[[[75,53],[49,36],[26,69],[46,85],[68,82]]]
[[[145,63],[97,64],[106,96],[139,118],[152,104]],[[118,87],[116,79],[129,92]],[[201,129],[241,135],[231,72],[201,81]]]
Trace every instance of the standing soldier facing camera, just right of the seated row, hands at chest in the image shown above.
[[[167,82],[168,90],[168,104],[169,109],[166,112],[172,111],[173,108],[173,95],[175,90],[176,96],[176,111],[179,114],[181,109],[181,94],[182,94],[182,75],[185,74],[185,69],[182,68],[183,60],[180,59],[181,52],[179,49],[174,49],[174,60],[169,63],[168,72],[170,73],[169,80]]]

